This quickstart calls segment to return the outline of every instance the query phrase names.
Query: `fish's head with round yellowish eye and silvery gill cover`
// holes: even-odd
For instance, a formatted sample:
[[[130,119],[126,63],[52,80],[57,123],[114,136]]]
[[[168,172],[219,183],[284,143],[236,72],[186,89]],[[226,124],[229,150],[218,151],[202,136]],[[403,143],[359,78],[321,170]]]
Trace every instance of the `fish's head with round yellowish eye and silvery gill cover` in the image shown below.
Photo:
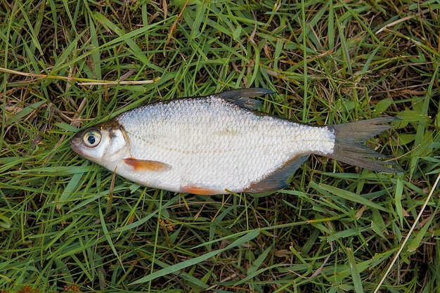
[[[114,166],[129,152],[129,139],[117,122],[102,123],[79,131],[70,145],[78,155],[105,167]]]

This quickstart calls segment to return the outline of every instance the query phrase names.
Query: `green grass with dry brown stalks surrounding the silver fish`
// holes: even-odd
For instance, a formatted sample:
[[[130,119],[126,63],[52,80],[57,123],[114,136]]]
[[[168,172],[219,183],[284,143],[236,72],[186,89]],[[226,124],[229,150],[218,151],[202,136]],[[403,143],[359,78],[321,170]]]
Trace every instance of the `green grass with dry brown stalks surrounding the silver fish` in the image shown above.
[[[0,6],[1,292],[440,292],[436,1]],[[313,125],[399,117],[369,144],[404,172],[316,156],[285,190],[202,197],[70,150],[139,105],[248,86]]]

